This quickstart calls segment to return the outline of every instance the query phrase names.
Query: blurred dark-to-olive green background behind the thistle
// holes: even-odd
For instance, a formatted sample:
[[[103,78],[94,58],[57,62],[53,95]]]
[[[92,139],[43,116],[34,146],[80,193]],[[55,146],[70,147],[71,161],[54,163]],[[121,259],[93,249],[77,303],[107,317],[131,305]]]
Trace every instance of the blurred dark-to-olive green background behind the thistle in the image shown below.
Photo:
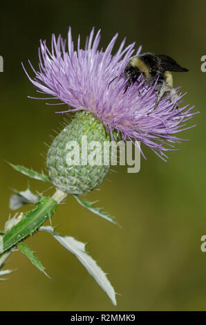
[[[67,35],[68,25],[76,40],[92,26],[102,28],[101,45],[115,32],[118,44],[136,41],[143,51],[174,57],[189,73],[176,73],[175,86],[187,91],[184,104],[200,111],[190,124],[198,127],[181,133],[191,141],[178,145],[164,163],[144,147],[148,160],[141,160],[138,174],[127,167],[113,167],[100,191],[88,194],[100,199],[123,230],[84,210],[68,198],[53,218],[59,232],[90,242],[88,251],[109,272],[118,306],[84,270],[72,254],[49,234],[39,233],[26,243],[37,252],[52,277],[46,278],[19,252],[12,254],[8,268],[17,271],[1,282],[1,310],[206,310],[206,253],[200,251],[200,236],[206,234],[205,199],[205,86],[200,57],[206,55],[206,1],[3,1],[1,3],[1,50],[4,72],[1,92],[1,227],[10,214],[12,189],[24,190],[26,176],[6,160],[37,171],[45,168],[50,135],[61,129],[59,106],[46,106],[36,96],[21,61],[30,58],[37,68],[39,39],[50,44],[50,35]],[[30,69],[28,68],[30,71]],[[143,147],[143,146],[142,146]],[[29,180],[32,191],[48,189]],[[46,194],[53,191],[48,189]],[[29,208],[29,207],[27,207]],[[12,213],[13,215],[13,213]]]

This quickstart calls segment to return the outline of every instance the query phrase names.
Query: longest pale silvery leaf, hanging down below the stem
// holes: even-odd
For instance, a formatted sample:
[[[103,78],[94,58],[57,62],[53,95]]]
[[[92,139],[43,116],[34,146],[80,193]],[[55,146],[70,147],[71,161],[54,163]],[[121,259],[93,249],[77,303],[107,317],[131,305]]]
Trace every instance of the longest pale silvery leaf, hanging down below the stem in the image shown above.
[[[86,244],[81,241],[77,241],[71,236],[64,236],[62,234],[57,234],[54,232],[54,229],[50,226],[41,226],[39,230],[44,230],[50,232],[59,243],[69,250],[77,259],[83,264],[88,273],[97,281],[97,284],[104,290],[104,292],[109,296],[112,303],[116,306],[117,302],[115,299],[115,290],[111,283],[106,277],[106,273],[102,271],[100,266],[97,266],[97,263],[93,258],[86,252]]]

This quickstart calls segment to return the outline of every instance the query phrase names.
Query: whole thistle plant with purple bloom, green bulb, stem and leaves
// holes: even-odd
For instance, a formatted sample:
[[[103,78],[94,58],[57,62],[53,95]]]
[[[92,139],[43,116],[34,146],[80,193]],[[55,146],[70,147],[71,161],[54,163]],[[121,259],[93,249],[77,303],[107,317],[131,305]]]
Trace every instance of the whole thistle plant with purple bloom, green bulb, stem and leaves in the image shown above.
[[[86,39],[86,46],[80,48],[80,37],[77,50],[74,49],[71,28],[68,31],[68,52],[66,41],[61,36],[52,38],[52,50],[48,50],[45,41],[41,41],[39,48],[39,71],[32,79],[26,69],[32,84],[37,86],[40,93],[51,95],[51,98],[62,101],[70,107],[62,113],[75,111],[72,122],[55,138],[47,156],[47,167],[49,177],[37,171],[28,169],[21,165],[12,165],[22,174],[53,183],[57,187],[53,197],[35,195],[26,191],[17,192],[10,198],[10,209],[15,210],[25,203],[34,203],[35,209],[24,214],[21,212],[6,222],[3,231],[0,231],[0,277],[12,272],[1,270],[3,263],[17,248],[28,257],[32,264],[41,272],[45,268],[37,259],[35,254],[22,241],[32,236],[39,230],[44,230],[53,235],[66,250],[72,252],[84,265],[86,270],[93,276],[97,284],[110,297],[116,305],[115,290],[111,286],[106,274],[97,266],[97,263],[86,252],[85,244],[77,241],[71,236],[65,236],[55,232],[55,228],[42,226],[50,219],[67,194],[84,194],[100,185],[111,163],[111,151],[106,151],[109,164],[90,165],[88,162],[79,165],[68,165],[66,156],[68,154],[68,143],[73,141],[82,145],[83,136],[88,139],[88,144],[93,141],[100,142],[116,140],[140,140],[150,147],[161,158],[165,159],[165,151],[173,150],[172,144],[178,142],[175,133],[188,129],[185,122],[194,113],[193,107],[183,106],[180,108],[182,95],[179,94],[176,100],[169,101],[162,99],[156,106],[158,93],[156,84],[152,87],[145,87],[143,82],[135,82],[127,91],[127,80],[122,73],[129,57],[133,54],[131,44],[124,48],[124,41],[118,52],[112,55],[113,46],[118,35],[115,35],[106,50],[97,50],[100,42],[100,31],[94,37],[94,30]],[[138,49],[136,55],[140,53]],[[114,77],[115,78],[114,80]],[[111,80],[113,82],[111,83]],[[110,86],[109,86],[110,85]],[[104,150],[101,153],[105,156]],[[80,156],[84,156],[84,146]],[[80,158],[80,157],[79,157]],[[82,159],[80,158],[81,162]],[[102,157],[101,157],[102,158]],[[102,209],[94,207],[79,196],[75,195],[77,202],[91,212],[101,216],[107,221],[116,223],[115,220]],[[3,279],[0,279],[0,281]]]

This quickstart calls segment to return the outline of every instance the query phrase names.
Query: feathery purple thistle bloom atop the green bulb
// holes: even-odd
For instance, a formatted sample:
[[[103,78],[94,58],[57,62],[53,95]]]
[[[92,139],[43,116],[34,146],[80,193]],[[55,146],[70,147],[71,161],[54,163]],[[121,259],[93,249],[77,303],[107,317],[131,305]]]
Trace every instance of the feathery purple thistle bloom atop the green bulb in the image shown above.
[[[57,39],[53,35],[51,51],[46,41],[40,41],[39,71],[30,64],[35,78],[32,79],[25,68],[24,71],[41,93],[53,96],[45,99],[59,99],[61,104],[71,106],[59,113],[78,110],[93,113],[111,135],[113,129],[117,129],[124,140],[139,140],[162,159],[167,158],[165,151],[174,150],[173,143],[182,140],[174,134],[190,128],[185,122],[195,114],[191,113],[194,106],[179,108],[185,95],[180,93],[177,100],[162,99],[156,107],[156,84],[146,87],[144,82],[135,82],[125,92],[127,80],[121,74],[134,52],[134,43],[124,48],[124,39],[118,52],[112,55],[117,37],[118,34],[111,39],[106,50],[97,50],[100,30],[94,38],[93,28],[86,38],[85,48],[80,48],[79,37],[75,50],[69,28],[68,51],[66,40],[61,35]],[[135,55],[139,55],[140,50],[141,47]],[[118,78],[113,80],[116,76]]]

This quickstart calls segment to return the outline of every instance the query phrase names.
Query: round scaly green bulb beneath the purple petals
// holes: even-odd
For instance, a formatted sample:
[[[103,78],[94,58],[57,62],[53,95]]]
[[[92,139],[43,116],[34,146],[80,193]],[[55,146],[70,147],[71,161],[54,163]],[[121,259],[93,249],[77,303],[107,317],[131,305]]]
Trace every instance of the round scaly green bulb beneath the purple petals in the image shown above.
[[[117,136],[118,133],[113,132],[113,140]],[[55,187],[68,194],[85,194],[98,187],[111,165],[112,152],[108,145],[105,149],[106,142],[111,143],[111,134],[100,120],[85,111],[76,113],[48,150],[47,168]],[[89,154],[95,145],[98,147],[95,154],[93,151],[95,163],[91,164]]]

